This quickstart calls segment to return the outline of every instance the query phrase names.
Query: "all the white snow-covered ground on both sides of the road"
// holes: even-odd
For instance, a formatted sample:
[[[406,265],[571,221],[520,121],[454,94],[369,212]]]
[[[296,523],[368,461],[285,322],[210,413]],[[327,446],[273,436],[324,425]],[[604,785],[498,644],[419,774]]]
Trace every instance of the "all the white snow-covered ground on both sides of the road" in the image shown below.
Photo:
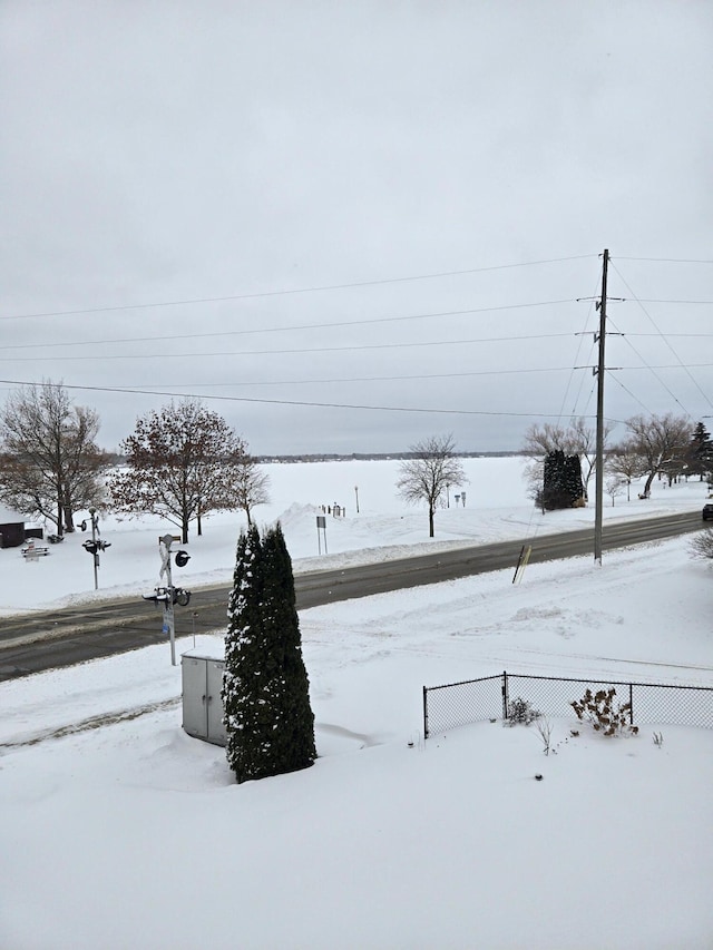
[[[467,507],[438,513],[434,542],[389,462],[273,466],[258,519],[281,517],[295,570],[592,523],[533,512],[519,460],[466,464]],[[334,501],[346,518],[328,517],[320,558],[312,506]],[[704,501],[656,484],[606,515]],[[238,528],[208,520],[176,579],[227,580]],[[150,589],[166,529],[102,522],[99,596]],[[97,596],[81,540],[31,565],[0,551],[0,623]],[[423,741],[421,708],[424,684],[504,669],[713,686],[709,565],[681,538],[511,580],[302,611],[320,757],[240,786],[183,732],[167,644],[0,684],[0,947],[711,948],[713,731],[575,738],[561,718],[545,756],[533,726],[499,722]]]

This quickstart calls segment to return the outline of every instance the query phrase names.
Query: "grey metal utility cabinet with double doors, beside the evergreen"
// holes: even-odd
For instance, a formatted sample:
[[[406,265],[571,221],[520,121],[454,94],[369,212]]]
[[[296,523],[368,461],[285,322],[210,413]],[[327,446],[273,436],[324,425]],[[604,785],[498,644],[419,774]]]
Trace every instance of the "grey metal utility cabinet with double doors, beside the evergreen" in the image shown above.
[[[212,656],[185,653],[180,657],[183,680],[183,727],[188,735],[225,745],[223,725],[223,670],[225,662]]]

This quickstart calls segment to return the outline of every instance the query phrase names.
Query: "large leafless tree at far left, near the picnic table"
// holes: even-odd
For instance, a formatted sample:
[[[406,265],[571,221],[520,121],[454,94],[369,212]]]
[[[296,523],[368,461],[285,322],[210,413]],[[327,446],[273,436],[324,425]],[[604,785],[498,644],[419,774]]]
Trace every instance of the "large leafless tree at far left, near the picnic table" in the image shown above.
[[[0,497],[52,521],[60,536],[74,531],[75,511],[104,500],[109,457],[95,442],[97,413],[72,405],[67,390],[48,381],[11,394],[0,425]]]

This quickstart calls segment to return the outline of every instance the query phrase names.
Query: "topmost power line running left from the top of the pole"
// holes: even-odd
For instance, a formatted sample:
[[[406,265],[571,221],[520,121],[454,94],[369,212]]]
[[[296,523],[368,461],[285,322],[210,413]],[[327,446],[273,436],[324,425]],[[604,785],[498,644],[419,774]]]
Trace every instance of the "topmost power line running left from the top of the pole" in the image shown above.
[[[141,303],[141,304],[121,304],[118,306],[100,306],[100,307],[87,307],[82,310],[59,310],[59,311],[46,311],[42,313],[19,313],[19,314],[10,314],[8,316],[0,316],[0,320],[30,320],[33,317],[43,317],[43,316],[79,316],[81,314],[88,313],[113,313],[117,311],[128,311],[128,310],[153,310],[156,307],[166,307],[166,306],[193,306],[195,304],[201,303],[226,303],[228,301],[245,301],[245,300],[258,300],[263,297],[276,297],[276,296],[289,296],[295,294],[313,294],[313,293],[322,293],[324,291],[343,291],[343,290],[352,290],[354,287],[371,287],[371,286],[380,286],[383,284],[404,284],[410,283],[412,281],[433,281],[441,277],[457,277],[463,276],[466,274],[484,274],[491,271],[509,271],[516,267],[535,267],[541,264],[560,264],[567,261],[583,261],[587,257],[593,257],[593,254],[577,254],[570,257],[550,257],[543,261],[524,261],[517,264],[496,264],[489,267],[470,267],[463,271],[442,271],[434,274],[416,274],[409,277],[384,277],[378,281],[354,281],[348,284],[324,284],[321,286],[313,287],[293,287],[289,290],[282,291],[261,291],[258,293],[251,294],[231,294],[228,296],[222,297],[195,297],[189,300],[177,300],[177,301],[160,301],[157,303]]]

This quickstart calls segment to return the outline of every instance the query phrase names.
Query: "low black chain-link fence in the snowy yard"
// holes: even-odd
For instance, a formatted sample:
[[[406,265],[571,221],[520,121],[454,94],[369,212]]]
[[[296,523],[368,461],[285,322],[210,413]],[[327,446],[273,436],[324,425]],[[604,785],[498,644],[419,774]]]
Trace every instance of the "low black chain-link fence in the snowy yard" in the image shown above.
[[[572,707],[587,689],[614,689],[618,705],[631,704],[632,725],[682,725],[713,728],[713,687],[616,679],[575,679],[502,673],[462,683],[423,687],[423,735],[490,719],[507,719],[511,704],[524,701],[545,716],[572,718]]]

